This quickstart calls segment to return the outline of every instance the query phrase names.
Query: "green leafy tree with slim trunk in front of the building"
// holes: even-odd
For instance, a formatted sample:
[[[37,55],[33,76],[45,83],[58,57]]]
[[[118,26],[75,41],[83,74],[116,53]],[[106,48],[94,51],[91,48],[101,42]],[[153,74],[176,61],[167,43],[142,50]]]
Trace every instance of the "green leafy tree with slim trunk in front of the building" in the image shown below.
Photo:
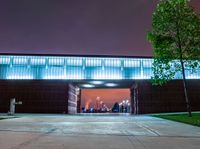
[[[194,73],[200,67],[200,15],[189,0],[160,0],[147,37],[154,49],[153,84],[162,85],[181,74],[187,111],[192,116],[185,70]]]

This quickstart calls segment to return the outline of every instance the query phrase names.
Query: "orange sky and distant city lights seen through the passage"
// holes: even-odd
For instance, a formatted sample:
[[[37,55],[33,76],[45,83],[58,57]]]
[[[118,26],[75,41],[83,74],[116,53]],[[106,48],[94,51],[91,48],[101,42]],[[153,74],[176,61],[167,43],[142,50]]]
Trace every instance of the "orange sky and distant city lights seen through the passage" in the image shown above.
[[[81,89],[81,113],[131,113],[130,89]]]

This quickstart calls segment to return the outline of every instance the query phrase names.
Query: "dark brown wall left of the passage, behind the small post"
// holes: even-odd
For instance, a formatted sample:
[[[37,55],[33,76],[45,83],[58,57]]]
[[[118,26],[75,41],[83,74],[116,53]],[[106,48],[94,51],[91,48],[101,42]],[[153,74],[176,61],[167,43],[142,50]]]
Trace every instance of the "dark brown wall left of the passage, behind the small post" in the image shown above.
[[[22,101],[19,113],[67,113],[68,83],[50,80],[1,80],[0,112],[9,110],[10,98]]]

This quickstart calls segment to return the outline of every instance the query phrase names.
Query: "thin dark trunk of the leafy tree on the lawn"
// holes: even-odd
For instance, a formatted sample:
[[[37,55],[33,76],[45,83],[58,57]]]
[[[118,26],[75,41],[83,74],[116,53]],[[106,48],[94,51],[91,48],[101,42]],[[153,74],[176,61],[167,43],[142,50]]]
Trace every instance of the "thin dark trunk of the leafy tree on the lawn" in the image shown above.
[[[184,96],[185,96],[185,101],[186,101],[186,107],[188,111],[188,116],[192,117],[192,112],[191,112],[191,102],[188,98],[188,93],[187,93],[187,83],[186,83],[186,78],[185,78],[185,67],[184,67],[184,62],[181,59],[181,68],[182,68],[182,75],[183,75],[183,88],[184,88]]]

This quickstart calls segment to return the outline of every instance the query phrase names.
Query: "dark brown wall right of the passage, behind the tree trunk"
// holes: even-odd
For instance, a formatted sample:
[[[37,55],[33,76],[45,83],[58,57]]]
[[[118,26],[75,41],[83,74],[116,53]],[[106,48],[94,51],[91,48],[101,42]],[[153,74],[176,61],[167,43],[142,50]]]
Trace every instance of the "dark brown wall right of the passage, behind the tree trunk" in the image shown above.
[[[188,80],[187,83],[192,110],[200,111],[200,80]],[[132,103],[137,103],[132,104],[135,114],[186,111],[182,80],[174,80],[163,86],[152,86],[146,80],[137,81],[131,93],[137,96],[136,99],[132,98]]]

